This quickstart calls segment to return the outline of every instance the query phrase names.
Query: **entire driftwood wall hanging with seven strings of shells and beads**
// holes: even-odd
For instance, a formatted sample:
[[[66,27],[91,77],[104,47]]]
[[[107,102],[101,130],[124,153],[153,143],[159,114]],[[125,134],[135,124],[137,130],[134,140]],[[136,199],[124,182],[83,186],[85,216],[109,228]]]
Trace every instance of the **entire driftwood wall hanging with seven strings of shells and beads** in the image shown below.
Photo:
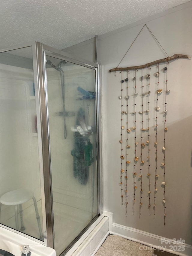
[[[148,27],[147,29],[155,38],[150,29]],[[155,40],[157,41],[156,38]],[[164,50],[163,47],[161,48]],[[117,102],[121,106],[119,123],[121,125],[119,137],[121,203],[125,204],[126,214],[129,205],[133,206],[134,212],[135,204],[138,203],[140,215],[142,207],[149,209],[149,215],[152,211],[155,215],[156,198],[162,197],[164,224],[166,217],[166,137],[169,126],[168,98],[171,93],[168,72],[170,61],[178,58],[189,57],[175,54],[145,65],[110,69],[110,72],[115,71],[116,76],[119,76],[117,97],[119,100]],[[133,193],[129,194],[128,188],[130,187]],[[148,187],[148,189],[144,190],[143,187]],[[136,194],[140,195],[138,202]],[[145,205],[144,197],[147,198]]]

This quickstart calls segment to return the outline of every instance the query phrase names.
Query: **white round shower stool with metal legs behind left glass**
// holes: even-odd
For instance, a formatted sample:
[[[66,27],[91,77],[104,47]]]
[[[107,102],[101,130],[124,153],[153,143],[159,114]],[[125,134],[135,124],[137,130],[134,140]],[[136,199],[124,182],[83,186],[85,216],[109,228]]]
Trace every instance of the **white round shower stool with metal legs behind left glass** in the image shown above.
[[[25,203],[29,200],[33,199],[34,206],[35,206],[35,212],[38,222],[38,228],[40,233],[40,239],[43,239],[43,232],[41,229],[41,223],[40,223],[40,217],[38,213],[37,208],[37,202],[34,197],[33,191],[29,189],[16,189],[9,191],[1,196],[0,198],[0,217],[1,217],[1,204],[4,205],[14,205],[15,206],[15,225],[16,229],[19,230],[19,223],[18,223],[18,215],[17,215],[17,207],[19,205],[19,214],[20,214],[20,220],[21,220],[21,230],[25,230],[24,224],[23,224],[23,214],[22,214],[22,203]]]

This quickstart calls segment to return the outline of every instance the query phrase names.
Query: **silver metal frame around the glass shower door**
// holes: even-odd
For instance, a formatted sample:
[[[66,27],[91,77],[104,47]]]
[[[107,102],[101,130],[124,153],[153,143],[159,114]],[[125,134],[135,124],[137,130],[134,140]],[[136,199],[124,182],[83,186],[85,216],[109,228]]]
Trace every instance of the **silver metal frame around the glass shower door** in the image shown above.
[[[46,80],[46,56],[54,57],[57,59],[61,59],[67,62],[71,62],[73,64],[81,65],[90,69],[95,70],[95,83],[96,83],[96,94],[97,94],[97,100],[96,100],[96,123],[97,123],[97,155],[98,155],[98,214],[100,215],[102,213],[102,186],[101,186],[101,149],[99,147],[101,143],[101,103],[100,103],[100,80],[99,80],[99,72],[100,72],[100,66],[96,63],[86,61],[84,59],[76,58],[68,53],[65,53],[64,51],[57,50],[55,48],[49,47],[45,44],[38,43],[39,50],[41,51],[41,56],[43,58],[41,59],[41,64],[39,63],[39,66],[43,65],[44,70],[41,68],[42,72],[42,79],[40,81],[40,92],[42,90],[43,94],[40,95],[40,101],[41,101],[41,113],[44,113],[41,120],[41,129],[42,129],[42,142],[47,139],[46,145],[42,143],[42,147],[44,150],[44,189],[45,189],[45,208],[46,208],[46,229],[47,229],[47,245],[55,248],[54,245],[54,223],[53,223],[53,200],[52,200],[52,182],[51,182],[51,158],[50,158],[50,141],[49,141],[49,112],[48,112],[48,102],[47,102],[47,80]],[[46,110],[46,113],[44,112]],[[45,135],[45,137],[44,137]],[[44,147],[45,146],[45,147]],[[47,165],[49,163],[49,167]]]

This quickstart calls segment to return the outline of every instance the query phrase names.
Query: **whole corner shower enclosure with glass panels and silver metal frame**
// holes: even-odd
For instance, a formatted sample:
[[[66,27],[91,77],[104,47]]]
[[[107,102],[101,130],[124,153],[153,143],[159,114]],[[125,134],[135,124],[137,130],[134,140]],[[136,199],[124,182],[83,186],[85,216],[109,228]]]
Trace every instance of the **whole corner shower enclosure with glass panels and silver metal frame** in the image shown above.
[[[57,255],[100,215],[99,94],[95,63],[36,41],[1,50],[0,225]]]

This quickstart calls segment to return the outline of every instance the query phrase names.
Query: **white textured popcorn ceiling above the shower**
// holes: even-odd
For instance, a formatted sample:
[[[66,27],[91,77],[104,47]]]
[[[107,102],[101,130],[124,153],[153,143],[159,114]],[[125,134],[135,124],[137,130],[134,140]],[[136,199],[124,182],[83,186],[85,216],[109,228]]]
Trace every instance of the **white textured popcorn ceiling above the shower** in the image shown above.
[[[1,0],[0,48],[40,41],[59,50],[185,0]]]

